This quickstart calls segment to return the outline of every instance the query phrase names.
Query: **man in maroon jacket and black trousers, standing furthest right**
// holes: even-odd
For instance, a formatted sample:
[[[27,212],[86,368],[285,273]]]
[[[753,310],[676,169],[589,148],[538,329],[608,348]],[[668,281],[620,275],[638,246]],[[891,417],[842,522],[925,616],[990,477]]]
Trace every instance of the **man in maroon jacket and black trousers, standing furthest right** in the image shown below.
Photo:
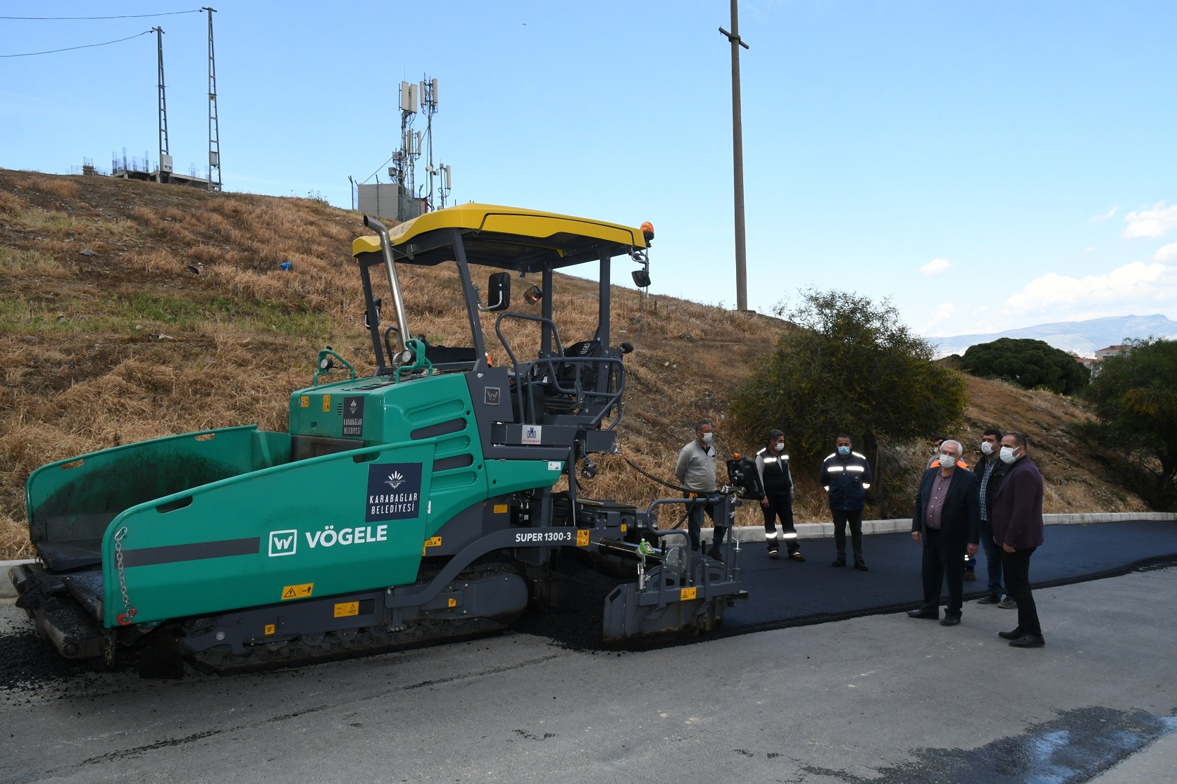
[[[1018,628],[997,634],[1013,648],[1042,648],[1046,641],[1030,592],[1030,556],[1045,541],[1042,474],[1026,455],[1026,437],[1020,433],[1008,433],[1002,438],[1000,460],[1009,470],[993,496],[990,517],[993,542],[1002,548],[1005,590],[1018,603]]]

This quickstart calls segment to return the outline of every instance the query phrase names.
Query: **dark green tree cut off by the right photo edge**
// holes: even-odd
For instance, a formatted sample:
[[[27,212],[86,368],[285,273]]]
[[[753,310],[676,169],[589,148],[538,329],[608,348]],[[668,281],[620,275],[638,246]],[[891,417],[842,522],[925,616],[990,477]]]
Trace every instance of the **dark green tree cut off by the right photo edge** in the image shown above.
[[[1104,441],[1152,475],[1158,503],[1172,501],[1177,476],[1177,341],[1130,340],[1104,360],[1088,397]]]

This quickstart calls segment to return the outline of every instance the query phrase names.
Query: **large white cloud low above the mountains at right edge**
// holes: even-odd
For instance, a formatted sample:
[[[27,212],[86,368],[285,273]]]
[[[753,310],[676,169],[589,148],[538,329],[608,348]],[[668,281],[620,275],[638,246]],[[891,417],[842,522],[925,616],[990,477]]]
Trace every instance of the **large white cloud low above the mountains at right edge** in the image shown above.
[[[1048,273],[1005,301],[1010,310],[1023,315],[1043,313],[1068,319],[1122,315],[1162,302],[1177,302],[1177,266],[1142,261],[1078,279]]]

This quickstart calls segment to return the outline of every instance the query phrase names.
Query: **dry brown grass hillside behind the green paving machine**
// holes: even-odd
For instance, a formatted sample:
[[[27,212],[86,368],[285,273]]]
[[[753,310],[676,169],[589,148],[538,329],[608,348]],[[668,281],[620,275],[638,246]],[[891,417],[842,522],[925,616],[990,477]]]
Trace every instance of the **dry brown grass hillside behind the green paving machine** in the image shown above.
[[[360,215],[306,199],[0,170],[0,558],[29,554],[24,483],[38,465],[201,428],[284,430],[287,395],[310,383],[325,344],[371,370],[350,255],[363,233]],[[657,244],[651,257],[652,275],[673,274]],[[403,275],[413,330],[459,337],[455,281],[440,269]],[[565,342],[583,340],[596,284],[561,275],[556,294]],[[725,425],[726,401],[784,322],[660,296],[639,310],[637,293],[617,288],[612,319],[617,341],[638,343],[624,454],[669,477],[703,416],[717,421],[722,450],[752,447]],[[1024,427],[1040,444],[1049,511],[1143,508],[1070,442],[1066,422],[1084,416],[1073,402],[979,380],[970,391],[972,425]],[[897,456],[913,476],[918,449]],[[799,517],[824,517],[816,482],[798,478]],[[641,504],[664,495],[616,457],[586,484]]]

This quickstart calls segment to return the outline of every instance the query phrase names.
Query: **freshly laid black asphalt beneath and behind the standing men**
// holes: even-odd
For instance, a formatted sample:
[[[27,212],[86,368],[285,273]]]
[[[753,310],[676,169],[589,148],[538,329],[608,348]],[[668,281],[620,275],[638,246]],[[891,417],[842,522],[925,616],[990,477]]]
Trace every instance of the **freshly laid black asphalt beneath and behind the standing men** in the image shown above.
[[[922,545],[911,534],[864,536],[863,556],[869,571],[850,564],[831,567],[832,538],[800,540],[804,562],[770,559],[763,542],[740,547],[740,578],[749,598],[727,609],[719,632],[724,636],[896,612],[923,601]],[[982,550],[977,554],[977,581],[965,583],[965,622],[969,612],[978,609],[967,601],[988,592],[985,563]],[[1030,579],[1035,588],[1045,588],[1171,563],[1177,563],[1177,522],[1048,525],[1046,542],[1030,561]],[[1012,612],[1010,621],[1011,625],[1016,622]]]

